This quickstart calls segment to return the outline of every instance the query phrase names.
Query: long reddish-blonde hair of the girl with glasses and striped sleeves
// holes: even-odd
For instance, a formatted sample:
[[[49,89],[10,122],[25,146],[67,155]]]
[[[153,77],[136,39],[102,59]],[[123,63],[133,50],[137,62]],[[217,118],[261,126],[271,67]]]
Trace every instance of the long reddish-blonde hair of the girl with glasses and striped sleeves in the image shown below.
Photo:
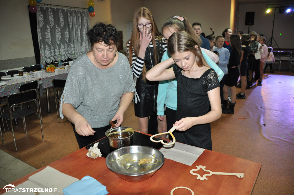
[[[133,51],[134,51],[135,55],[138,56],[139,49],[140,49],[140,37],[139,37],[139,30],[138,30],[138,27],[137,27],[137,23],[141,19],[141,17],[143,17],[143,18],[145,18],[147,20],[150,20],[151,23],[152,23],[152,25],[151,25],[151,27],[152,27],[151,28],[152,40],[151,41],[152,41],[153,48],[154,48],[154,60],[155,60],[155,63],[158,64],[158,53],[156,51],[155,39],[161,40],[161,38],[163,36],[158,31],[158,28],[157,28],[156,23],[155,23],[155,21],[153,19],[151,11],[146,7],[138,8],[135,11],[134,19],[133,19],[133,32],[132,32],[131,38],[126,43],[126,44],[128,44],[128,42],[130,42],[130,45],[128,47],[129,52],[127,53],[127,58],[129,60],[130,65],[132,65]],[[144,63],[143,70],[142,70],[142,78],[145,81],[146,81],[146,78],[145,78],[146,72],[147,72],[147,70],[146,70],[146,66],[145,66],[145,63]]]

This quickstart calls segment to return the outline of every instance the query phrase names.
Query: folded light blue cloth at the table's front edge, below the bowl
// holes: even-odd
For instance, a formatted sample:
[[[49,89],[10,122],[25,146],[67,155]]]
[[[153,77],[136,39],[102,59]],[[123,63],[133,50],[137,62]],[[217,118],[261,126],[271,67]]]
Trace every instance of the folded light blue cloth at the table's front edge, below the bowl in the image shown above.
[[[108,194],[106,186],[91,176],[84,176],[63,189],[64,195],[105,195]]]

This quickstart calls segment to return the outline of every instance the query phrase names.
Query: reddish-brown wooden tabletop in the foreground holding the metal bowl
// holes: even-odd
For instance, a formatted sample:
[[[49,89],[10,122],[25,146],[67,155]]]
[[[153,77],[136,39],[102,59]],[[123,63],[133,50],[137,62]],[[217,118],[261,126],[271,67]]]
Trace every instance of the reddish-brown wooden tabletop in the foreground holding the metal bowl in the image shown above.
[[[170,194],[171,190],[178,186],[188,187],[195,194],[201,195],[248,195],[252,193],[261,169],[260,163],[205,150],[192,166],[165,159],[163,167],[151,176],[151,178],[140,182],[129,182],[111,172],[106,166],[106,159],[104,157],[91,159],[86,156],[87,152],[88,150],[85,148],[79,149],[48,166],[78,179],[89,175],[105,185],[109,194],[121,195]],[[196,179],[197,176],[190,173],[191,169],[196,169],[196,165],[206,166],[206,169],[213,172],[244,173],[245,176],[243,179],[240,179],[236,176],[212,175],[207,177],[208,180],[201,181]],[[28,180],[29,176],[44,168],[24,176],[11,184],[15,186],[21,184]],[[207,174],[208,172],[198,171],[197,173],[203,176],[203,174]],[[5,191],[4,189],[0,189],[1,193]],[[177,189],[173,194],[189,195],[191,192],[186,189]]]

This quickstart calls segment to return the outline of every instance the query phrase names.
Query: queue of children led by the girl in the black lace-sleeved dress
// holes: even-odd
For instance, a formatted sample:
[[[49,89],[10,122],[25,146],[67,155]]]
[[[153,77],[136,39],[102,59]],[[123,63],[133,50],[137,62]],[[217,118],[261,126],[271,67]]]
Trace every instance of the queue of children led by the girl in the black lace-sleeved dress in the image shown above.
[[[211,149],[210,122],[221,113],[234,114],[236,98],[245,99],[253,80],[261,85],[264,63],[265,69],[271,67],[265,38],[255,32],[233,34],[230,28],[205,37],[201,23],[191,25],[184,16],[169,18],[161,34],[145,7],[136,10],[133,21],[126,56],[137,78],[139,130],[152,133],[153,118],[159,133],[177,125],[178,142]]]

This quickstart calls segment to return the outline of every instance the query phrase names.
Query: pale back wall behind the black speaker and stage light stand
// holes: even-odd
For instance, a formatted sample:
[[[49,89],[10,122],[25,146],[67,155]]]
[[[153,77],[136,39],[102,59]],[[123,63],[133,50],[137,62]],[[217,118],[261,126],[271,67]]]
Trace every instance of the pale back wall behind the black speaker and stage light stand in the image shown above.
[[[277,1],[276,3],[282,4],[282,1]],[[275,4],[275,2],[270,3]],[[239,24],[238,30],[242,30],[244,33],[248,33],[248,26],[245,26],[245,14],[247,11],[254,11],[254,25],[249,27],[250,31],[255,31],[258,34],[263,33],[265,38],[268,40],[271,37],[273,29],[273,19],[274,12],[271,14],[265,13],[267,10],[267,4],[244,4],[239,6]],[[294,13],[279,14],[279,8],[276,9],[275,13],[275,24],[273,31],[273,38],[281,49],[293,49],[294,48]],[[282,33],[280,35],[280,33]],[[275,42],[272,42],[272,46]],[[273,48],[278,48],[277,46]]]

